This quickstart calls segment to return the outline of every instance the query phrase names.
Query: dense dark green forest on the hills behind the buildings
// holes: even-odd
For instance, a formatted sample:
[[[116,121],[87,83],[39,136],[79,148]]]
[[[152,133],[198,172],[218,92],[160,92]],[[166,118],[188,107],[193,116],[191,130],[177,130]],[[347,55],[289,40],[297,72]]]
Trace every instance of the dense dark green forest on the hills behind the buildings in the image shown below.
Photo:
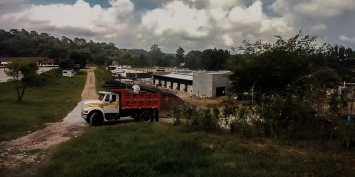
[[[68,67],[74,63],[110,65],[118,61],[132,67],[184,67],[192,69],[221,70],[230,57],[229,51],[216,48],[204,51],[177,49],[176,54],[164,53],[153,44],[150,51],[121,49],[113,43],[87,42],[82,38],[55,38],[48,33],[28,32],[24,29],[0,29],[0,57],[49,57]],[[216,64],[218,63],[218,64]]]

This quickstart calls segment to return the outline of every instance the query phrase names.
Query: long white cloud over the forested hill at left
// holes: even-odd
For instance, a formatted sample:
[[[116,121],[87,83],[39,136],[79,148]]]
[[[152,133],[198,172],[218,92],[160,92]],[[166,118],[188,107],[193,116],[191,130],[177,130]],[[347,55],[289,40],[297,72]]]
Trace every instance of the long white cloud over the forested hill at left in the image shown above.
[[[110,0],[112,7],[90,7],[77,0],[73,5],[32,5],[20,12],[0,16],[2,23],[29,29],[80,29],[105,37],[129,28],[134,6],[129,0]]]

